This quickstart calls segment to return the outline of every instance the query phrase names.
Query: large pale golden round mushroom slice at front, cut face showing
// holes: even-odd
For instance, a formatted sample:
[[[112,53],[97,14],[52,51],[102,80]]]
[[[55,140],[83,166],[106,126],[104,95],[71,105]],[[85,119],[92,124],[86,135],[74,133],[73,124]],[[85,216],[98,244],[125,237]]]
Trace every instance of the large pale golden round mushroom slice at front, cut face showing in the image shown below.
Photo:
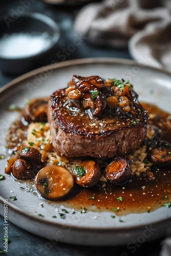
[[[69,194],[74,186],[74,178],[65,167],[49,165],[39,170],[35,185],[42,197],[58,199]]]

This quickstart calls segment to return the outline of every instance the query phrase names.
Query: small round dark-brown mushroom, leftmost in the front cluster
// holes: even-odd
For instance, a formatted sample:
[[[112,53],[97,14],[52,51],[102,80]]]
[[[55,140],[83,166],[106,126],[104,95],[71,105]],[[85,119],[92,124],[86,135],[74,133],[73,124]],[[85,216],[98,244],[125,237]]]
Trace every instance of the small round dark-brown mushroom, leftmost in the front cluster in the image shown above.
[[[35,177],[36,172],[29,161],[18,158],[12,166],[12,174],[18,180],[29,180]]]

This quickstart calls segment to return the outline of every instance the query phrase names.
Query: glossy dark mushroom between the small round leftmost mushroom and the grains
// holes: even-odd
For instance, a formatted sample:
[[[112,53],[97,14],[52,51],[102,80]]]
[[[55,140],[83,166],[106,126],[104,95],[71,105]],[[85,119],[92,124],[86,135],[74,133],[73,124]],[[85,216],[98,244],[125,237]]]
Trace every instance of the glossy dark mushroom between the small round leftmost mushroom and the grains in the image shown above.
[[[24,147],[19,154],[20,158],[23,158],[31,163],[34,169],[41,169],[44,167],[45,162],[41,161],[41,154],[34,147]]]

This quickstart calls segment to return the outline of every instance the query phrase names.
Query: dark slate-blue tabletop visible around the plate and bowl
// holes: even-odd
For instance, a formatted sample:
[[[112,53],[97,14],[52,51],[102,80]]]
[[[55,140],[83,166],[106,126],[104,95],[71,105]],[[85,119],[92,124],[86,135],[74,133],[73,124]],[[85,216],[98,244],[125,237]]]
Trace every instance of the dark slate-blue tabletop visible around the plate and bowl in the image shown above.
[[[10,16],[13,10],[17,10],[20,6],[20,1],[7,1],[1,0],[0,3],[0,16]],[[60,28],[60,39],[56,46],[56,53],[62,48],[67,48],[69,44],[72,43],[74,38],[73,23],[74,18],[81,8],[81,5],[75,6],[55,6],[42,3],[40,1],[30,1],[30,6],[27,12],[40,12],[46,14],[47,16],[53,18]],[[55,56],[56,57],[56,56]],[[74,52],[67,56],[66,60],[76,59],[76,58],[87,58],[87,57],[117,57],[117,58],[131,58],[127,49],[110,49],[104,47],[95,47],[88,45],[83,41],[80,46],[78,46]],[[54,60],[54,56],[53,56]],[[61,61],[57,59],[56,61]],[[51,59],[47,60],[47,64],[51,63]],[[16,76],[11,76],[9,74],[3,74],[0,70],[0,87],[5,86],[8,82],[13,80]],[[1,227],[4,224],[3,217],[0,216]],[[2,229],[1,229],[2,230]],[[3,249],[3,232],[0,233],[0,249]],[[6,255],[57,255],[57,256],[95,256],[95,255],[127,255],[134,256],[157,256],[161,250],[161,241],[164,238],[158,239],[157,241],[148,242],[141,244],[137,247],[136,251],[133,253],[131,250],[125,246],[115,246],[115,247],[90,247],[90,246],[76,246],[70,244],[57,243],[52,246],[50,250],[46,250],[45,244],[48,240],[40,238],[31,234],[19,227],[13,225],[9,222],[9,238],[10,243],[8,245],[8,252]],[[105,238],[104,238],[105,239]],[[40,250],[40,248],[42,250]]]

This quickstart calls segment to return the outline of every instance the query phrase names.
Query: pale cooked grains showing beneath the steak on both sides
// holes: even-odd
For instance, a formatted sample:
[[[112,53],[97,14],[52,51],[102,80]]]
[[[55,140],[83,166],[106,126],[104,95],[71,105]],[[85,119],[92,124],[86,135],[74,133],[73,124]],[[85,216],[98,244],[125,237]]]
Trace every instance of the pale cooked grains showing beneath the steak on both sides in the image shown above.
[[[148,127],[146,137],[151,139],[155,131]],[[80,158],[67,158],[59,156],[51,144],[51,133],[49,123],[30,123],[28,126],[28,135],[26,145],[32,145],[40,151],[42,156],[46,157],[47,165],[61,165],[66,167],[71,173],[72,170],[81,162]],[[130,154],[126,155],[127,159],[130,159],[130,166],[132,169],[132,175],[140,176],[145,173],[151,167],[152,163],[147,158],[147,146],[142,145],[137,150],[134,150]]]

